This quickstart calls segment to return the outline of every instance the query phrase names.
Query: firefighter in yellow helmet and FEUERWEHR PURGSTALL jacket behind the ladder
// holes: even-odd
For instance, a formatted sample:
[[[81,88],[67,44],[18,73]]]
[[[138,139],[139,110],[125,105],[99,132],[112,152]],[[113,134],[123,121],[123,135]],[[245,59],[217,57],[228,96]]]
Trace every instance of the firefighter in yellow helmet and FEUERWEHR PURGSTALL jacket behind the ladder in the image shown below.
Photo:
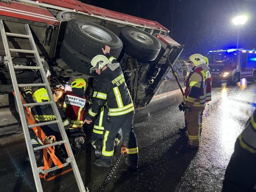
[[[49,96],[47,94],[47,91],[45,88],[37,89],[37,91],[32,94],[31,87],[24,87],[24,91],[26,94],[25,100],[27,103],[41,103],[44,101],[49,101]],[[39,105],[39,106],[32,106],[30,108],[32,115],[34,116],[35,121],[37,123],[43,123],[47,121],[55,121],[55,115],[52,110],[52,106],[49,105]],[[65,113],[59,109],[59,114],[62,118],[62,121],[66,120]],[[64,126],[65,130],[68,129],[69,125]],[[42,130],[44,131],[45,135],[54,135],[57,140],[61,140],[61,135],[59,133],[59,128],[56,123],[41,126]],[[31,137],[31,144],[33,148],[39,147],[40,145],[43,145],[42,141],[39,140],[39,138],[36,137],[33,130],[30,130],[30,137]],[[34,151],[34,156],[36,160],[42,160],[42,150]],[[26,157],[26,160],[29,160],[29,157]]]

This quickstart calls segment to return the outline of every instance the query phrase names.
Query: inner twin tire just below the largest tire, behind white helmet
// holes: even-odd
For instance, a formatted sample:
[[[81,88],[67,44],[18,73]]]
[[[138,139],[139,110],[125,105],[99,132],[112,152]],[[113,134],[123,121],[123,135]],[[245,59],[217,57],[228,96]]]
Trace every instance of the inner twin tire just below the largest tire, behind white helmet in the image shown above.
[[[65,40],[62,42],[60,57],[71,69],[74,69],[82,74],[91,75],[91,59],[74,51],[74,49],[72,49]]]

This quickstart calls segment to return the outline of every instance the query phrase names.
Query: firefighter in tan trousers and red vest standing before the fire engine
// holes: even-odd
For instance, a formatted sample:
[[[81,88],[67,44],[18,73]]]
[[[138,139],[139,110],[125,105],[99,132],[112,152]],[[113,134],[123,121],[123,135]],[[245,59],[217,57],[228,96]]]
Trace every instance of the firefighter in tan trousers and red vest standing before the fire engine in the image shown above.
[[[185,96],[179,106],[185,111],[188,146],[199,147],[199,116],[204,111],[207,101],[211,101],[211,75],[201,54],[192,54],[187,61],[192,66],[186,81]]]

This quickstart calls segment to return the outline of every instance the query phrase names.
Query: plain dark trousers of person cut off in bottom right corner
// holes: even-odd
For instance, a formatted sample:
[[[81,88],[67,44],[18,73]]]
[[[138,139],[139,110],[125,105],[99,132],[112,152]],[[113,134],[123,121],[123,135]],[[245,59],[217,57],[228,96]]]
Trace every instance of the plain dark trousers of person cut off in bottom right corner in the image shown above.
[[[256,192],[256,153],[250,153],[236,139],[223,181],[222,192]]]

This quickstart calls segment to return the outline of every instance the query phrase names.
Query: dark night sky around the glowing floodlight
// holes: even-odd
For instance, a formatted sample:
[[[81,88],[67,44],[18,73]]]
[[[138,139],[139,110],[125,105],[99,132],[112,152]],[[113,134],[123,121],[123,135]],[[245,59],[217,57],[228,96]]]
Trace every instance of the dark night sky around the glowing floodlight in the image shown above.
[[[182,58],[209,50],[235,48],[238,26],[232,18],[247,15],[239,48],[256,49],[256,0],[84,0],[109,10],[155,20],[185,44]],[[172,13],[172,10],[173,13]],[[173,14],[173,22],[172,22]]]

